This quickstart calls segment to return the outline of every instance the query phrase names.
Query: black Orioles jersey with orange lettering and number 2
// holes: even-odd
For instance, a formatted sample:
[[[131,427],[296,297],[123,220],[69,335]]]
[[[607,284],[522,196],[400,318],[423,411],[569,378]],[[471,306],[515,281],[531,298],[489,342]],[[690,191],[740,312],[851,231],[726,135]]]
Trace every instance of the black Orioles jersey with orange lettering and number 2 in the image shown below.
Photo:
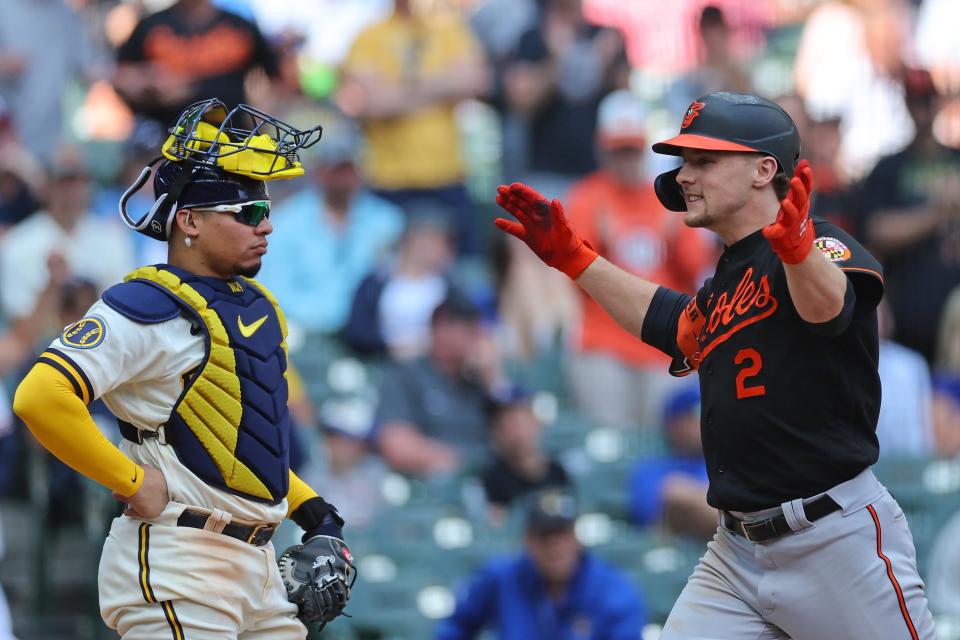
[[[821,493],[877,460],[880,264],[816,221],[819,249],[848,278],[844,312],[811,324],[761,231],[727,247],[695,298],[661,287],[643,339],[699,369],[710,505],[756,511]]]

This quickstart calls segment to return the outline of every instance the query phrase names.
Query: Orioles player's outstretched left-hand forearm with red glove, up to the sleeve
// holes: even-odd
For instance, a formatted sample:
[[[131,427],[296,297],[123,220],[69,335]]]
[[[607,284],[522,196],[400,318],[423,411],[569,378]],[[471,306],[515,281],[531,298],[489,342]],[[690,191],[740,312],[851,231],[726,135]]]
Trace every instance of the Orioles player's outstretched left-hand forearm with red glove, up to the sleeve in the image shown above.
[[[575,280],[620,326],[640,337],[658,285],[604,260],[567,221],[563,205],[520,183],[497,188],[497,204],[519,222],[495,224],[523,240],[546,264]]]

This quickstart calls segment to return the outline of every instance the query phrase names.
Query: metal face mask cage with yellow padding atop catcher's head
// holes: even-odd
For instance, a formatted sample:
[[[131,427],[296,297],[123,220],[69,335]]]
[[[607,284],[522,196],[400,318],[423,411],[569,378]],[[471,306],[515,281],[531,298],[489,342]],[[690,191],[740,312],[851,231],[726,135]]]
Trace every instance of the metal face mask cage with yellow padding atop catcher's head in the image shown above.
[[[216,127],[216,135],[199,134],[200,123]],[[228,110],[223,102],[212,98],[187,107],[169,133],[173,144],[165,151],[178,160],[217,166],[222,158],[247,150],[273,155],[269,168],[256,172],[266,177],[299,162],[297,152],[319,142],[323,127],[301,131],[250,105],[240,104]],[[264,135],[275,148],[258,144],[257,136]],[[224,137],[229,142],[223,142]]]

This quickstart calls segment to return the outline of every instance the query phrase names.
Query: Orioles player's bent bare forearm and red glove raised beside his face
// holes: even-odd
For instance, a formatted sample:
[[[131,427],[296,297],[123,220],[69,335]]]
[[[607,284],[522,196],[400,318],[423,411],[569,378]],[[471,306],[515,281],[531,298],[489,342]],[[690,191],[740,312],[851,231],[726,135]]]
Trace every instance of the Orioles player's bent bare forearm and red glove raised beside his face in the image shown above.
[[[820,251],[811,251],[816,236],[810,219],[813,171],[801,160],[780,203],[777,219],[763,235],[783,262],[790,298],[800,317],[810,323],[831,322],[845,310],[852,313],[852,289],[847,277]]]

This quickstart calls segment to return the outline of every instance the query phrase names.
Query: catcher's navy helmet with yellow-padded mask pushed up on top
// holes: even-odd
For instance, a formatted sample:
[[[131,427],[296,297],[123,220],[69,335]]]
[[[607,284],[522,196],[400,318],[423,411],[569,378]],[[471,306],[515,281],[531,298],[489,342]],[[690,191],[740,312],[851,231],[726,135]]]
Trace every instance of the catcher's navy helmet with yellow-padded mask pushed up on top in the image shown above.
[[[247,105],[232,110],[219,100],[193,104],[170,129],[161,150],[120,198],[120,217],[156,240],[168,240],[178,209],[268,200],[266,181],[303,175],[300,149],[315,144],[319,126],[299,131]],[[127,201],[154,171],[154,203],[139,220]]]

